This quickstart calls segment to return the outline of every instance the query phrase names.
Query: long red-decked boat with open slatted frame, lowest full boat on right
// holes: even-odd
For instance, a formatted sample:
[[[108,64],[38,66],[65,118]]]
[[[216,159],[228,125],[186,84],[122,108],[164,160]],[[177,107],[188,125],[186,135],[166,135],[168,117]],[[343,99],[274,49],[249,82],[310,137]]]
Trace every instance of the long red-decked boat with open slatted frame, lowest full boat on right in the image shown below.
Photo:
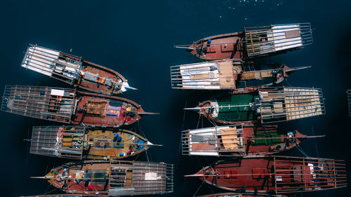
[[[219,161],[194,175],[238,193],[300,193],[347,186],[345,161],[331,158],[258,156]]]

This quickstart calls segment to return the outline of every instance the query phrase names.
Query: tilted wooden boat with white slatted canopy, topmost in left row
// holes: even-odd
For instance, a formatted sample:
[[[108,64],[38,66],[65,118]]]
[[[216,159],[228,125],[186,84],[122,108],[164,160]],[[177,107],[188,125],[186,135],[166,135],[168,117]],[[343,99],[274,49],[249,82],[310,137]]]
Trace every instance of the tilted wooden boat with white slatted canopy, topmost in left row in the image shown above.
[[[42,46],[29,44],[21,65],[94,93],[113,95],[128,89],[135,90],[124,76],[112,69]]]

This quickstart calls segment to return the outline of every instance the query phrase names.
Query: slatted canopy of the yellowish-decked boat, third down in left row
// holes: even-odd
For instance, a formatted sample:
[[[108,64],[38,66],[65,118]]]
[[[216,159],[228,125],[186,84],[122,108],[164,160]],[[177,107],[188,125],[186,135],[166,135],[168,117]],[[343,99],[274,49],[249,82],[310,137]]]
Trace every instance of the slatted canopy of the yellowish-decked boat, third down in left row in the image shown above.
[[[84,125],[34,126],[30,154],[82,158]]]

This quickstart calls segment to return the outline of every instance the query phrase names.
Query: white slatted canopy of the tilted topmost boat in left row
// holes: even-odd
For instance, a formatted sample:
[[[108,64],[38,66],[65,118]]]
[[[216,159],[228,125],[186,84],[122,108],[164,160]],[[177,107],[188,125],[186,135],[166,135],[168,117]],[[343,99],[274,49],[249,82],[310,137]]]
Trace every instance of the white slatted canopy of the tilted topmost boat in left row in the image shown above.
[[[63,55],[57,50],[29,44],[21,65],[34,72],[73,83],[79,79],[81,64],[81,57]],[[94,76],[87,72],[85,77],[88,79]]]

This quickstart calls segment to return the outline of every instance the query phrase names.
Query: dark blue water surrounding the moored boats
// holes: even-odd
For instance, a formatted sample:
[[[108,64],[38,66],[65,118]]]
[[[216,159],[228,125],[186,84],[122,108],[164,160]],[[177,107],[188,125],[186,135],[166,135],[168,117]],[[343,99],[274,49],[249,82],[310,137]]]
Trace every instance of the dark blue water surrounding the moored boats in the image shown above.
[[[169,67],[197,61],[174,44],[188,44],[205,36],[238,32],[243,27],[311,22],[314,43],[303,50],[267,58],[291,67],[312,65],[289,78],[291,86],[323,88],[326,115],[283,124],[301,133],[327,135],[305,140],[301,145],[310,156],[345,159],[350,163],[350,118],[345,90],[351,88],[351,1],[2,1],[1,78],[5,84],[65,86],[46,76],[20,67],[28,43],[83,56],[123,74],[139,90],[124,97],[159,112],[140,121],[147,138],[164,147],[150,149],[152,161],[176,164],[175,192],[165,196],[193,196],[201,185],[198,179],[183,178],[217,158],[180,156],[182,128],[196,128],[198,116],[185,102],[197,102],[215,93],[171,90]],[[285,84],[288,86],[288,84]],[[67,86],[65,86],[67,87]],[[28,129],[51,122],[0,113],[1,178],[0,196],[42,194],[54,189],[41,179],[55,165],[69,160],[28,155]],[[184,124],[183,124],[184,123]],[[206,125],[206,120],[205,123]],[[30,134],[30,133],[29,133]],[[303,156],[293,149],[285,153]],[[138,159],[146,159],[145,154]],[[348,173],[350,175],[350,172]],[[198,194],[220,191],[204,184]],[[298,194],[297,196],[299,196]],[[304,196],[351,196],[338,189]]]

